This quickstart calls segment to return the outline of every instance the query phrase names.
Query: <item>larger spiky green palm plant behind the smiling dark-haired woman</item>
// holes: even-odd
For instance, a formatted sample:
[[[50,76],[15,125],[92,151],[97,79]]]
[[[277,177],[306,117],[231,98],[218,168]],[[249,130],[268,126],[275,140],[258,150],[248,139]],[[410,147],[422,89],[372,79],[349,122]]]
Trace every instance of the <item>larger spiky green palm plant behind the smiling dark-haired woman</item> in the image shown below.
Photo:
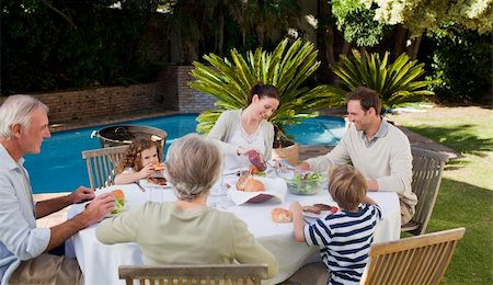
[[[277,139],[287,124],[317,116],[313,110],[344,101],[344,96],[334,96],[332,87],[302,86],[320,66],[316,60],[317,53],[312,43],[297,39],[288,47],[288,39],[284,39],[272,53],[259,47],[254,53],[248,52],[245,58],[232,49],[232,61],[215,54],[205,55],[210,67],[195,61],[192,76],[196,80],[188,86],[217,98],[218,109],[204,111],[197,117],[197,132],[208,133],[226,110],[244,109],[249,90],[256,81],[275,86],[279,91],[280,104],[270,118],[277,130]]]

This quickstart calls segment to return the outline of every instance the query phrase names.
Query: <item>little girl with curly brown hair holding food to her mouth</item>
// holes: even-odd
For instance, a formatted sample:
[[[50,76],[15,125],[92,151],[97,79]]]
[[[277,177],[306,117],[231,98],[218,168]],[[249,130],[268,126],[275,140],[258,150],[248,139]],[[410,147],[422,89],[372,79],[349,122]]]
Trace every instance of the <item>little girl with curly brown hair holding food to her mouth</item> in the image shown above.
[[[115,184],[128,184],[152,175],[162,176],[161,151],[149,137],[131,141],[116,168]]]

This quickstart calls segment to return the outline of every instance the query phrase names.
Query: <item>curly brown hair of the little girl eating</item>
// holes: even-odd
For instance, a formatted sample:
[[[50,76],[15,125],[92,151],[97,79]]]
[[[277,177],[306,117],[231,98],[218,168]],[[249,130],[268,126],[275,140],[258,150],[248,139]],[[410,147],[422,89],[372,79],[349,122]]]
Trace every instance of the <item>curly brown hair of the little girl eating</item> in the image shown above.
[[[144,166],[141,163],[141,152],[145,149],[156,147],[158,151],[158,159],[161,161],[162,151],[158,142],[150,139],[150,137],[137,137],[131,140],[125,155],[119,160],[118,167],[116,168],[116,173],[122,173],[126,168],[134,168],[135,171],[140,171]]]

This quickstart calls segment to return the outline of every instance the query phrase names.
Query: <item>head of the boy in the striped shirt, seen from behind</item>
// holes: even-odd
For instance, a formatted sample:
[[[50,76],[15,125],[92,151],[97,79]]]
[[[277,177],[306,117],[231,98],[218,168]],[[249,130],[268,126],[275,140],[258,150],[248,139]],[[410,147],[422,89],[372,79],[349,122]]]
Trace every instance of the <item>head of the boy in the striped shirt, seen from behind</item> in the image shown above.
[[[355,209],[366,196],[363,174],[352,166],[336,167],[330,178],[329,193],[342,209]]]

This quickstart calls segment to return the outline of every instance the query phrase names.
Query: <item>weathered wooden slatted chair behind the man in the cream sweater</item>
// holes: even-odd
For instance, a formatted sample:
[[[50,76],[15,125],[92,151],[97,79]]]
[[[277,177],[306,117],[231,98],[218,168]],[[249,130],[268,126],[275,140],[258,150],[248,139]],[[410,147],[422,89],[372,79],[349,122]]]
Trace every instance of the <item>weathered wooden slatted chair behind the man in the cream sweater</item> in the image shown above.
[[[419,236],[423,235],[428,226],[448,156],[417,147],[412,147],[411,152],[413,155],[412,190],[417,196],[417,205],[413,218],[402,225],[401,231]]]

